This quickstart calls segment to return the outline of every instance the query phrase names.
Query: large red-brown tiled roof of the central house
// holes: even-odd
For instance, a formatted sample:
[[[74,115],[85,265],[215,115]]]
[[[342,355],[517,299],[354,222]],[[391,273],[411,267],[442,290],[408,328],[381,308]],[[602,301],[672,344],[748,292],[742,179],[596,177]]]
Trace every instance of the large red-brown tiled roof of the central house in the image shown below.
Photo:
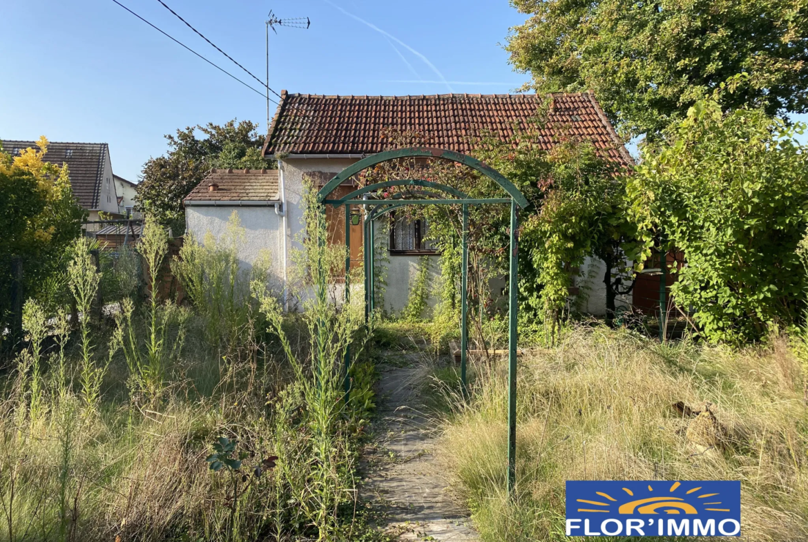
[[[425,145],[458,153],[473,150],[473,138],[493,133],[503,141],[524,129],[542,106],[549,116],[541,145],[566,133],[591,141],[615,162],[632,164],[612,124],[591,92],[545,95],[323,96],[281,92],[265,156],[379,153],[389,146],[385,130],[419,132]]]

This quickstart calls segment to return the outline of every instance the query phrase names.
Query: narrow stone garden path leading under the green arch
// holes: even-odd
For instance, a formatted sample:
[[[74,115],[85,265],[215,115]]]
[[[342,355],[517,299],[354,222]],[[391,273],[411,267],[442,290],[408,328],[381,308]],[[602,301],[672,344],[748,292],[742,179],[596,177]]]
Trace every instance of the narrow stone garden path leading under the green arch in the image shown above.
[[[392,354],[381,365],[376,435],[364,453],[362,497],[381,512],[380,527],[397,540],[479,540],[468,510],[448,494],[436,458],[436,431],[419,389],[427,378],[419,354]]]

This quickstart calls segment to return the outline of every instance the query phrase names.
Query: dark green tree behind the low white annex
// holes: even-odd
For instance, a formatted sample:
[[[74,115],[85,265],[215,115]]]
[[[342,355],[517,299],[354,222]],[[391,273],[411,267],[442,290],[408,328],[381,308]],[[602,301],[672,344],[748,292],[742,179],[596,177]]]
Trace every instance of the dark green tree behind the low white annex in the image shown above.
[[[230,120],[208,123],[166,135],[168,152],[150,158],[137,185],[137,207],[176,231],[185,227],[183,200],[214,167],[263,169],[273,167],[261,156],[263,138],[257,124]],[[197,137],[197,131],[202,137]]]

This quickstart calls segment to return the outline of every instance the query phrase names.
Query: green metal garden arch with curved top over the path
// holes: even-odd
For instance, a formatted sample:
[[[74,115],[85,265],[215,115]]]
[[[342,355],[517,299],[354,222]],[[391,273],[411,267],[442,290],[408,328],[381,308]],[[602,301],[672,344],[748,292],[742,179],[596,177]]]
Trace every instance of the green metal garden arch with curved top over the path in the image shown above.
[[[507,192],[505,198],[469,198],[465,193],[456,188],[443,184],[433,183],[420,179],[403,179],[397,181],[387,181],[376,183],[367,187],[361,187],[351,193],[344,195],[339,200],[330,200],[328,196],[340,184],[362,170],[377,166],[383,162],[390,162],[398,158],[440,158],[450,162],[456,162],[469,166],[489,179],[497,183]],[[421,200],[406,199],[406,196],[393,195],[392,199],[368,200],[364,196],[369,192],[381,190],[387,187],[419,187],[426,190],[414,191],[413,195],[423,196]],[[440,199],[438,192],[454,196],[454,199]],[[363,206],[366,210],[372,206],[371,212],[366,216],[364,225],[364,269],[365,269],[365,314],[372,317],[375,309],[373,292],[373,242],[374,231],[373,221],[378,217],[401,208],[405,205],[454,205],[459,204],[463,208],[463,233],[462,251],[463,263],[461,266],[461,379],[465,387],[466,376],[466,354],[468,351],[469,328],[468,328],[468,267],[469,267],[469,205],[476,204],[511,204],[511,258],[509,272],[509,303],[508,303],[508,451],[507,451],[507,489],[511,493],[516,483],[516,347],[518,342],[517,317],[519,306],[516,298],[517,273],[519,269],[519,209],[528,207],[528,200],[503,174],[486,166],[476,158],[466,154],[456,153],[450,150],[433,149],[430,147],[412,147],[407,149],[395,149],[383,153],[373,154],[348,166],[340,172],[329,183],[326,183],[318,191],[318,201],[324,205],[331,205],[334,208],[345,208],[345,299],[350,300],[349,275],[351,271],[351,206]],[[368,250],[368,246],[371,250]],[[345,389],[349,391],[350,380],[348,378],[349,352],[345,354]]]

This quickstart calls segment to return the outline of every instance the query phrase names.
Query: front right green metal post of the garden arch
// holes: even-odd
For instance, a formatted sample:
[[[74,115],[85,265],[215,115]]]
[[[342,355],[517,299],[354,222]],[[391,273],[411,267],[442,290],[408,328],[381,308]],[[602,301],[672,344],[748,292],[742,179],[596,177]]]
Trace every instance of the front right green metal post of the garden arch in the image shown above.
[[[519,273],[519,216],[516,200],[511,202],[511,270],[510,300],[508,305],[508,409],[507,409],[507,492],[514,494],[516,487],[516,344],[519,340],[518,321],[519,302],[516,297]]]

